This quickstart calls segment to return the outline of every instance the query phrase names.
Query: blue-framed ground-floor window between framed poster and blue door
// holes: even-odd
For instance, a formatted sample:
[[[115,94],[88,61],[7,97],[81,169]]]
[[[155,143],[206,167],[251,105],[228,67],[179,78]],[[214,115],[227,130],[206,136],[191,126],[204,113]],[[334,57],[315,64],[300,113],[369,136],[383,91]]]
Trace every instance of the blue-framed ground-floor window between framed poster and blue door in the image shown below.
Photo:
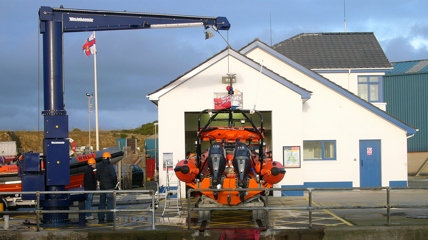
[[[336,160],[336,140],[303,141],[303,161]]]

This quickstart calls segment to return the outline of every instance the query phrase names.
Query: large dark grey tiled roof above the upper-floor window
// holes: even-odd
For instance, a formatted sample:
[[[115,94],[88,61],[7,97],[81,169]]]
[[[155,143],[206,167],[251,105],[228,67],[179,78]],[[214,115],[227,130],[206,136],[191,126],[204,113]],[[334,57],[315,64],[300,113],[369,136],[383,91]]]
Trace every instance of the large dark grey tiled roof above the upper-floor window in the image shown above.
[[[391,67],[373,32],[301,33],[273,49],[309,69]]]

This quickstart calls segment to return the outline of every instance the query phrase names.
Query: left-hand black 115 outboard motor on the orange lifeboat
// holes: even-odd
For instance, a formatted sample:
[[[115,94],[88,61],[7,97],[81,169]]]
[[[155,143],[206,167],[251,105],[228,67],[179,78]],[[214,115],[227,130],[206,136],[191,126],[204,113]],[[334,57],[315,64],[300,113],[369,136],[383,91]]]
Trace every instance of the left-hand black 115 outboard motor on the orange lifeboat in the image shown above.
[[[226,168],[226,157],[224,156],[224,147],[221,143],[213,143],[208,149],[208,168],[211,172],[211,187],[221,188],[223,184],[223,172]],[[214,192],[214,199],[217,200],[218,192]]]

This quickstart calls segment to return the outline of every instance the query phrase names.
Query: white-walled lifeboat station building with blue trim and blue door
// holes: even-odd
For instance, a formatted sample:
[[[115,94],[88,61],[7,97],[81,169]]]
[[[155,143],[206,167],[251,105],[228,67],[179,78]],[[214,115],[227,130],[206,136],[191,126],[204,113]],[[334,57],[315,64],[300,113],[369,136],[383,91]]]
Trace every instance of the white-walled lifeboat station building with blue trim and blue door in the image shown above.
[[[256,104],[267,149],[286,168],[274,187],[407,186],[407,137],[417,129],[382,110],[382,99],[375,105],[357,94],[363,78],[373,89],[370,76],[381,78],[391,67],[318,73],[276,49],[258,38],[239,51],[228,47],[147,96],[158,107],[160,185],[166,182],[163,153],[172,153],[176,164],[195,151],[199,112],[214,109],[214,97],[229,85],[222,78],[235,72],[234,96],[243,109]]]

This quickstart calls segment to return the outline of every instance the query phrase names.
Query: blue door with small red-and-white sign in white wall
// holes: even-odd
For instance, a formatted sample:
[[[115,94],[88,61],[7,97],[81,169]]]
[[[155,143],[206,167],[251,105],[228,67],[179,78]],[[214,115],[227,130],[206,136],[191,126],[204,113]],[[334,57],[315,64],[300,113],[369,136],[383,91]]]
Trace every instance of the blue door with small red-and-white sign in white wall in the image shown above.
[[[360,187],[380,187],[380,140],[360,140]]]

